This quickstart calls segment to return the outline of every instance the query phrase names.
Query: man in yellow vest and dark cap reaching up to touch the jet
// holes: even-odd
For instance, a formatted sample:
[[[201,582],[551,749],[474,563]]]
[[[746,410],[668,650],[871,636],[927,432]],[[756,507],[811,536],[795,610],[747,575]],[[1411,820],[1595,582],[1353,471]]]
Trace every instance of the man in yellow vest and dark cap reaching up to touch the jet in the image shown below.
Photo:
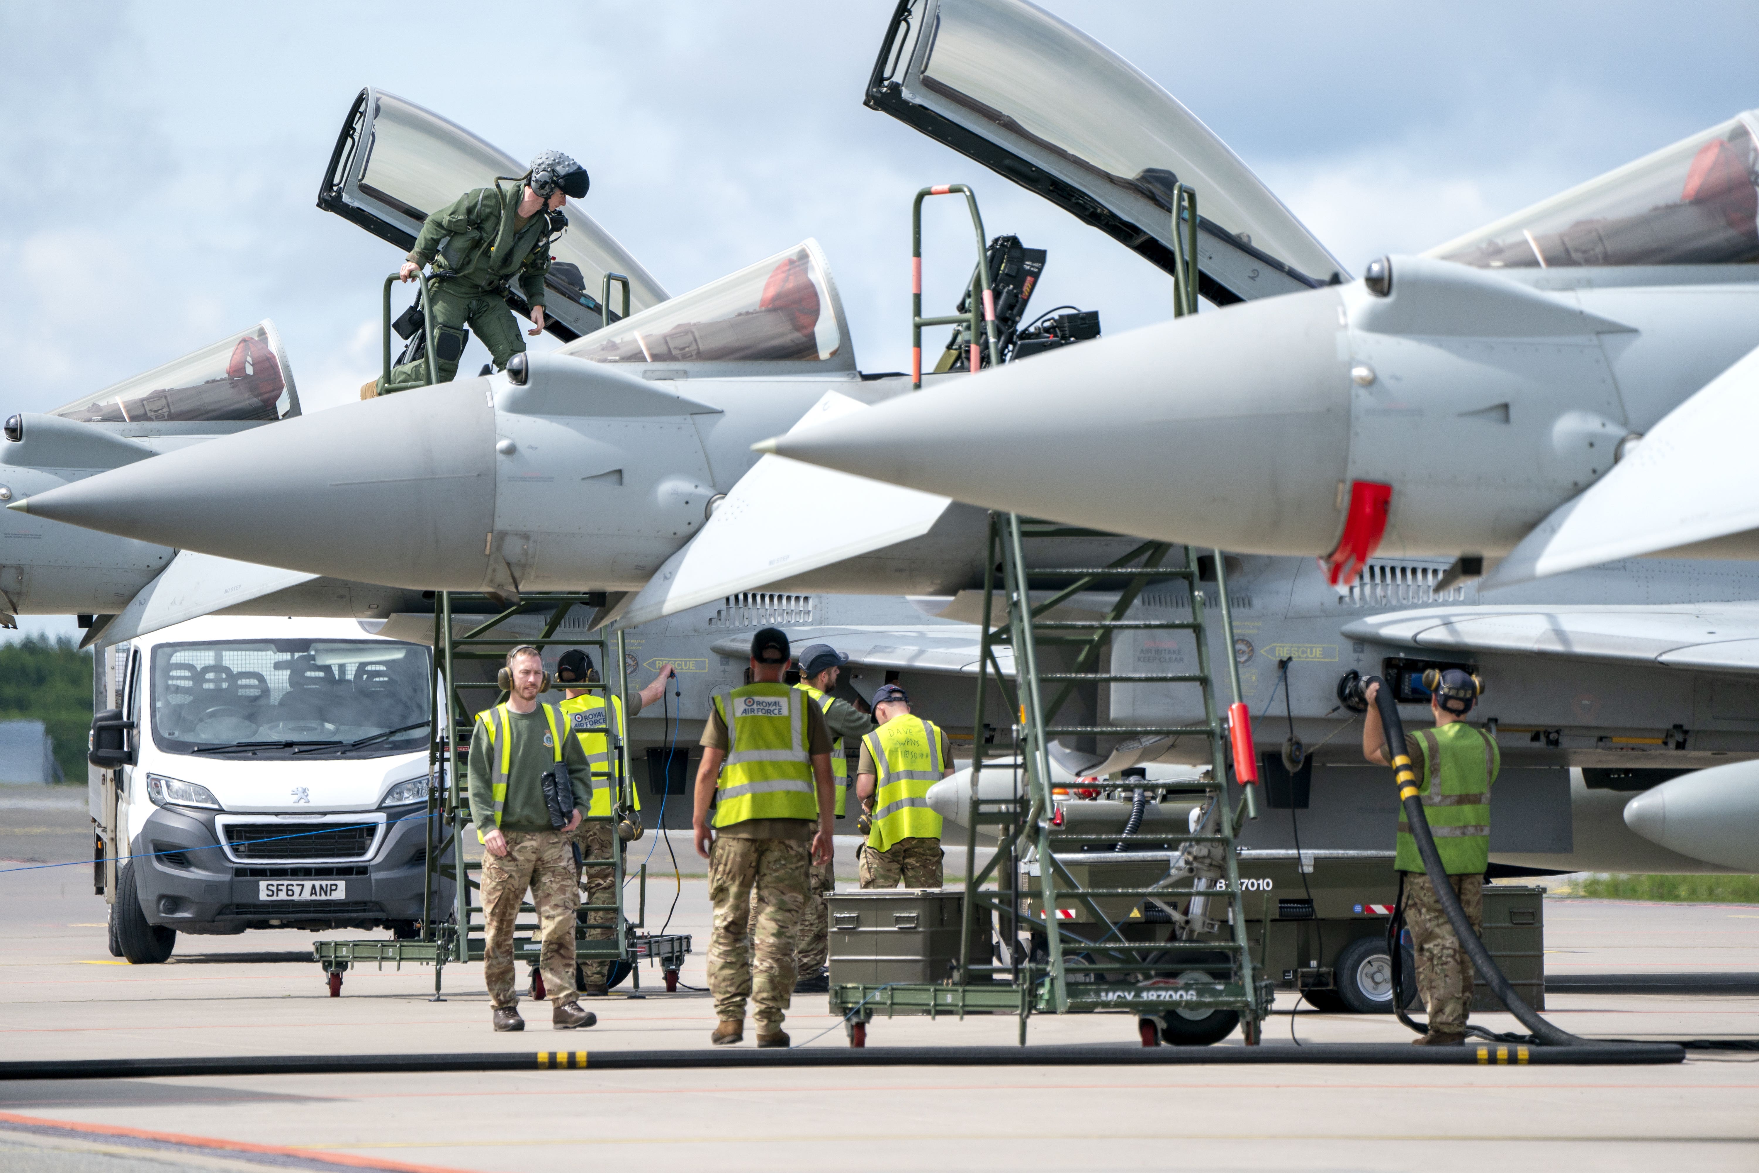
[[[677,675],[672,665],[667,665],[665,672],[654,677],[654,682],[635,693],[630,698],[630,707],[624,710],[623,698],[610,696],[610,710],[616,714],[617,740],[628,740],[628,718],[633,718],[647,705],[660,700],[660,693],[665,691],[665,682]],[[610,737],[607,737],[605,723],[605,696],[602,693],[589,693],[584,688],[568,688],[570,684],[589,684],[598,681],[598,672],[593,668],[593,658],[582,649],[572,647],[561,654],[556,661],[556,682],[563,686],[566,700],[563,700],[558,709],[568,718],[568,728],[573,730],[580,742],[580,749],[586,751],[586,761],[593,769],[593,805],[588,807],[588,818],[610,818],[612,790],[616,788],[616,749],[612,747]],[[642,798],[635,790],[630,790],[630,797],[635,800],[635,809],[642,809]],[[573,830],[573,841],[580,844],[580,855],[586,860],[609,860],[612,841],[617,835],[614,823],[591,823],[584,821]],[[617,902],[617,869],[616,867],[586,867],[580,874],[580,895],[582,904],[616,904]],[[609,909],[593,909],[586,914],[588,941],[610,941],[616,936],[614,925],[617,923],[617,914]],[[588,997],[603,997],[610,992],[607,978],[610,976],[610,962],[605,958],[586,962],[582,967],[586,983],[580,987],[580,994]]]

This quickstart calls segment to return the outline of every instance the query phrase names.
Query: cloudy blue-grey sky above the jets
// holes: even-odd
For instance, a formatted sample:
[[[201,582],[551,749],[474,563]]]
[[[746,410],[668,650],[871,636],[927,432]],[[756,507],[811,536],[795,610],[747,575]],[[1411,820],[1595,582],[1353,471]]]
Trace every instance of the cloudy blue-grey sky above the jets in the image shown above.
[[[398,255],[315,195],[364,84],[517,158],[577,157],[588,211],[674,294],[818,237],[864,369],[908,364],[923,183],[974,183],[990,232],[1050,250],[1034,302],[1096,308],[1108,332],[1164,317],[1159,271],[862,107],[892,7],[0,0],[0,408],[264,317],[308,412],[355,397]],[[1752,0],[1045,7],[1166,86],[1353,271],[1759,107]],[[927,266],[950,294],[969,236],[946,211]]]

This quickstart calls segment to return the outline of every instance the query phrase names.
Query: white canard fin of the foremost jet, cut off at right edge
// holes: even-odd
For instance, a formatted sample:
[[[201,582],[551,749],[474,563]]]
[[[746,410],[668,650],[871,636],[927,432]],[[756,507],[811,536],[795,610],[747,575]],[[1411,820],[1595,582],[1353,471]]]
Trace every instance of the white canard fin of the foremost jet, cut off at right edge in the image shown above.
[[[1604,477],[1560,505],[1485,579],[1514,586],[1620,557],[1759,552],[1759,350],[1662,417]]]

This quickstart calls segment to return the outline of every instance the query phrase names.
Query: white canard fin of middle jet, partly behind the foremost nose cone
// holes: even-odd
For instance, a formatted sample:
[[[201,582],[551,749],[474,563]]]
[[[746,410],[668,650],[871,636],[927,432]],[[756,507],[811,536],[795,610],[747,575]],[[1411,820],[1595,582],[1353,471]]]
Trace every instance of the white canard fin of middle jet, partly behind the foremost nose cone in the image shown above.
[[[800,417],[806,427],[867,404],[828,390]],[[765,455],[714,515],[609,621],[631,628],[661,616],[920,538],[948,498]]]

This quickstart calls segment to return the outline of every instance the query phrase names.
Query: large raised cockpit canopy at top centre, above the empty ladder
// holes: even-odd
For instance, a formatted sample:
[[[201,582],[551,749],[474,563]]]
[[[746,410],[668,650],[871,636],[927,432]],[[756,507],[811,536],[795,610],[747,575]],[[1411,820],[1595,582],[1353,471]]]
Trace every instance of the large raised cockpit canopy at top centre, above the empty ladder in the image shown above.
[[[867,106],[1173,267],[1173,192],[1198,195],[1200,292],[1233,302],[1344,267],[1208,127],[1129,62],[1025,0],[902,0]]]

